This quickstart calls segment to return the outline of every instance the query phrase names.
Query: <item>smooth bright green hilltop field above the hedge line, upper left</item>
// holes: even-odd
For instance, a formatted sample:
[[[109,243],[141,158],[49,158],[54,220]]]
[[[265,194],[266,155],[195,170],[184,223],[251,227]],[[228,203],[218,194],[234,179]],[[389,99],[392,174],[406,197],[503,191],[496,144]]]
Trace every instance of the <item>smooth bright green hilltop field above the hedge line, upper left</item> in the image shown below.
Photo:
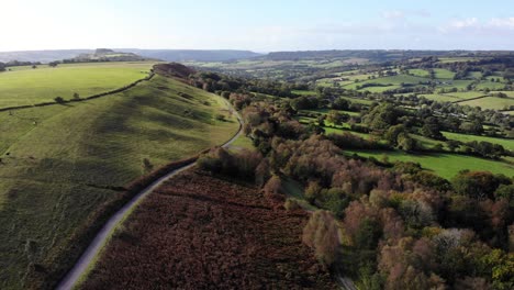
[[[145,78],[153,63],[97,63],[19,67],[0,72],[0,108],[88,97]]]

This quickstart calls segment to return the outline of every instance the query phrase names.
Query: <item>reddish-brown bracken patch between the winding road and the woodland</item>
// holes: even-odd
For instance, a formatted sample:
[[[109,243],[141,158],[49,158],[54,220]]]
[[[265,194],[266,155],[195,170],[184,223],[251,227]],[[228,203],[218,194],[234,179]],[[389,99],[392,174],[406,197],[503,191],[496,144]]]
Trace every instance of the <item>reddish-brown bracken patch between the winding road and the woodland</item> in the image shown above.
[[[333,289],[301,242],[308,214],[279,204],[253,186],[182,172],[125,221],[81,289]]]

